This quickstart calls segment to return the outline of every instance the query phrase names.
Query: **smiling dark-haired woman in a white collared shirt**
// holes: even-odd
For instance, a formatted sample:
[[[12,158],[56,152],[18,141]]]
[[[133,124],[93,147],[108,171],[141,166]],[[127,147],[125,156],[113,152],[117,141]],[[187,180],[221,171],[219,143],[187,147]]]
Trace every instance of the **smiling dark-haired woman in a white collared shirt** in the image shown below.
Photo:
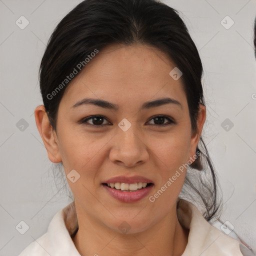
[[[208,222],[221,202],[200,136],[201,75],[171,7],[85,0],[71,10],[41,61],[35,120],[74,201],[20,256],[245,255]]]

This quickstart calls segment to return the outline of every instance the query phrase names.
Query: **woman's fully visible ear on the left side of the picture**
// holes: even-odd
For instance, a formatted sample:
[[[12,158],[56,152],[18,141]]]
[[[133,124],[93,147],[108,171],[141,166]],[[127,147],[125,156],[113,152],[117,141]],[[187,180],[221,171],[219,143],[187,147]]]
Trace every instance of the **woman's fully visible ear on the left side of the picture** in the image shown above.
[[[34,110],[37,129],[41,135],[43,144],[47,150],[51,162],[61,162],[61,156],[57,144],[57,136],[52,130],[44,105],[39,105]]]

